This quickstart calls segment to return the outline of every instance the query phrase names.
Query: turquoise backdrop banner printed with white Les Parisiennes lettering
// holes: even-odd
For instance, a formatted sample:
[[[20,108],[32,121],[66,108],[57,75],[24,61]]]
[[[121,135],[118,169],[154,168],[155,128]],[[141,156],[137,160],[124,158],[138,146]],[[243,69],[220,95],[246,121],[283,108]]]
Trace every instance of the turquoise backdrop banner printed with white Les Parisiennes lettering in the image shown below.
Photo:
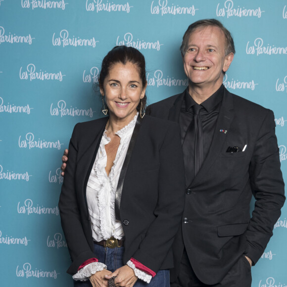
[[[0,286],[72,286],[59,167],[74,125],[103,116],[101,60],[138,48],[148,103],[180,93],[182,36],[203,18],[234,36],[227,89],[274,111],[287,181],[286,0],[0,0]],[[287,287],[286,242],[285,206],[252,287]]]

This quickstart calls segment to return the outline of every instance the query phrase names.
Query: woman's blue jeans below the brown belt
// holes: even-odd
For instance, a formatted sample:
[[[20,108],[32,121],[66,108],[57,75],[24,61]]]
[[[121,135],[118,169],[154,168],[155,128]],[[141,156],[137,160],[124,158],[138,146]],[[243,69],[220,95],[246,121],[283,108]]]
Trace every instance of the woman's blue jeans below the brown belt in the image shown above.
[[[107,270],[114,272],[122,267],[125,247],[108,248],[94,244],[94,253],[99,262],[107,266]],[[147,284],[138,279],[134,287],[169,287],[169,270],[159,270]],[[74,287],[92,287],[90,281],[74,281]]]

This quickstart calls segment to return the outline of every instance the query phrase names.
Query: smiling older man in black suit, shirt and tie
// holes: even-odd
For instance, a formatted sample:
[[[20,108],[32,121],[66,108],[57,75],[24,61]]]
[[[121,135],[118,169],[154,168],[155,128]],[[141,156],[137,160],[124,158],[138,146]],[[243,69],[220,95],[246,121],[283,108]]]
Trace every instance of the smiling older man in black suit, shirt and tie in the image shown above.
[[[248,287],[285,201],[274,115],[223,86],[235,48],[219,21],[191,24],[181,53],[188,88],[146,111],[182,131],[186,204],[171,286]]]

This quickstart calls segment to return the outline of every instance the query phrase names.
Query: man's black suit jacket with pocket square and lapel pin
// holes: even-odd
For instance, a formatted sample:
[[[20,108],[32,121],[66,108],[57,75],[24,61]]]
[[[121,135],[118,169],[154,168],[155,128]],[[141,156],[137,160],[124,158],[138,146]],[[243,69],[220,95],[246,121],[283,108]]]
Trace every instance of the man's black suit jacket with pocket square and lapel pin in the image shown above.
[[[178,122],[183,100],[184,93],[169,97],[150,105],[147,113]],[[245,144],[245,151],[226,152],[229,146]],[[242,254],[255,264],[285,201],[273,112],[224,88],[209,152],[188,188],[186,220],[173,245],[171,281],[184,246],[205,284],[220,282]],[[252,193],[256,202],[250,219]]]

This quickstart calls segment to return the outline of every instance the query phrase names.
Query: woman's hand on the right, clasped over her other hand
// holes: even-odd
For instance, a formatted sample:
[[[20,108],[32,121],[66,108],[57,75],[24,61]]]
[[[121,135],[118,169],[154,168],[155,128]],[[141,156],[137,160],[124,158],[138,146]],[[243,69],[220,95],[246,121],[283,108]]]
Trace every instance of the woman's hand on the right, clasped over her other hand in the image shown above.
[[[128,265],[125,265],[119,269],[117,269],[115,272],[109,275],[105,275],[106,279],[110,279],[113,276],[116,276],[115,279],[115,286],[121,286],[121,287],[133,287],[134,284],[137,282],[138,277],[135,275],[134,270],[129,267]]]

